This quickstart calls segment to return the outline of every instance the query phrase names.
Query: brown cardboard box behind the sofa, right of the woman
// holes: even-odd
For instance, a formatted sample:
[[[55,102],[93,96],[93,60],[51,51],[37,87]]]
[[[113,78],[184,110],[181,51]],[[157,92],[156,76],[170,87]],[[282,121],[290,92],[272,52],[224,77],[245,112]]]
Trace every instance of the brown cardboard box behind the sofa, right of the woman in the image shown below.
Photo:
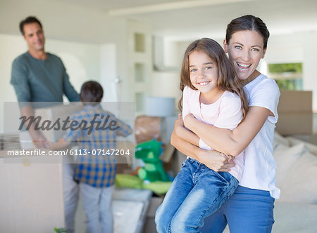
[[[276,131],[281,135],[311,134],[313,128],[312,92],[280,91]]]

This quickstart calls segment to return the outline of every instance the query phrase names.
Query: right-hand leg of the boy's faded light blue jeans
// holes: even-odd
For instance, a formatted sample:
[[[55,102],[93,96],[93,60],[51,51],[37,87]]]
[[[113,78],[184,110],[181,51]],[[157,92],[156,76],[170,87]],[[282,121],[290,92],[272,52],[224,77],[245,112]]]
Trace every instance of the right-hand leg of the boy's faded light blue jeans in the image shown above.
[[[114,186],[101,189],[99,203],[100,227],[103,233],[113,232],[112,194]]]

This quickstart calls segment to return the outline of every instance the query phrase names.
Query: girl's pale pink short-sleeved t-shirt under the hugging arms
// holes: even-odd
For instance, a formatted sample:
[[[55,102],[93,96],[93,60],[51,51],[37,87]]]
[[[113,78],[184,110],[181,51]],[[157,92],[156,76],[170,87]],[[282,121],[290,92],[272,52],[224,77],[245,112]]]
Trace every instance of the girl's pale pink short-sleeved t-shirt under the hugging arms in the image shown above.
[[[195,91],[185,86],[182,94],[182,117],[192,113],[196,119],[206,124],[216,126],[218,128],[228,128],[232,130],[242,120],[243,114],[241,109],[240,97],[225,91],[220,98],[211,105],[205,105],[199,102],[200,91]],[[199,140],[199,147],[202,149],[211,149],[203,140]],[[230,174],[237,180],[242,180],[244,153],[240,153],[235,157],[235,166],[231,168]]]

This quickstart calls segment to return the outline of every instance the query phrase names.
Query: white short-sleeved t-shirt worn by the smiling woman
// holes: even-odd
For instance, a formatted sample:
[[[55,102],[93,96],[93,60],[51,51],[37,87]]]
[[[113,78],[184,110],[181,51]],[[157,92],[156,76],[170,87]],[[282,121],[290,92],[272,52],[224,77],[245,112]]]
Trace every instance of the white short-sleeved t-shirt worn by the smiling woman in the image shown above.
[[[249,106],[269,109],[274,116],[268,116],[263,127],[244,149],[244,172],[239,185],[251,189],[269,191],[271,197],[280,198],[280,189],[275,186],[276,163],[273,157],[273,137],[278,121],[278,99],[280,90],[273,79],[261,74],[244,86]]]

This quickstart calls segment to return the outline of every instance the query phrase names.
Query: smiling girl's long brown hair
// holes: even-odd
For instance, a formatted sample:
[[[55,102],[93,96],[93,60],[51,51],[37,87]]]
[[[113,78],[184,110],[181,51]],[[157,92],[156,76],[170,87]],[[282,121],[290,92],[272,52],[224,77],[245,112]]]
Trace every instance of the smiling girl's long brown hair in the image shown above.
[[[235,72],[235,68],[225,54],[225,51],[220,44],[213,39],[198,39],[192,42],[192,44],[189,44],[182,60],[182,69],[180,71],[180,90],[183,91],[185,86],[189,86],[193,90],[197,90],[197,88],[192,86],[189,76],[189,55],[193,51],[206,53],[206,55],[215,62],[218,67],[217,88],[222,91],[230,91],[239,95],[242,103],[242,113],[244,119],[248,111],[247,95],[244,93],[243,85]],[[178,107],[180,108],[180,111],[182,111],[182,97],[178,101]]]

